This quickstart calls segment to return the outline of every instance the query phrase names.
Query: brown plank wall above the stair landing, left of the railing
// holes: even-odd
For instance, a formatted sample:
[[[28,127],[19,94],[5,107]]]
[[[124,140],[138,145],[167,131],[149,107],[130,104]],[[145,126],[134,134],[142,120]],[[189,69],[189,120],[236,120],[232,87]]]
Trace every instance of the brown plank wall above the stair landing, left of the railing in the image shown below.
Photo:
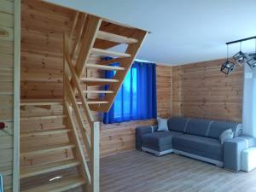
[[[74,12],[34,0],[21,1],[21,97],[62,96],[62,39]]]

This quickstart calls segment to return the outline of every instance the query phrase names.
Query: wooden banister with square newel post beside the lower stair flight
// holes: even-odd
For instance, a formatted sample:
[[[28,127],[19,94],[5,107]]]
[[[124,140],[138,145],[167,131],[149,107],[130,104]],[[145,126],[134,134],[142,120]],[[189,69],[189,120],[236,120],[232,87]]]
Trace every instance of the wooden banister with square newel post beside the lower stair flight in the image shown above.
[[[63,73],[63,81],[64,81],[64,103],[67,113],[67,119],[69,120],[73,133],[75,135],[75,143],[77,143],[79,148],[79,160],[83,162],[83,177],[86,177],[86,181],[88,183],[90,192],[99,192],[99,160],[100,160],[100,122],[95,122],[90,111],[88,102],[85,99],[84,91],[81,87],[80,80],[78,77],[78,73],[75,70],[73,65],[73,60],[70,55],[70,44],[71,39],[68,39],[67,34],[64,34],[64,46],[63,46],[63,55],[64,55],[64,73]],[[76,92],[79,95],[79,101],[82,103],[82,109],[84,110],[84,115],[81,113]],[[82,143],[78,141],[78,133],[77,126],[74,122],[72,111],[74,113],[74,118],[78,124],[78,129],[81,132],[83,143],[85,146],[86,153],[88,154],[88,158],[90,161],[90,169],[87,166],[87,162],[85,160],[84,152],[80,149],[82,148]],[[84,119],[85,118],[85,119]],[[89,131],[87,132],[85,129],[86,120],[89,124]],[[90,136],[89,136],[90,135]]]

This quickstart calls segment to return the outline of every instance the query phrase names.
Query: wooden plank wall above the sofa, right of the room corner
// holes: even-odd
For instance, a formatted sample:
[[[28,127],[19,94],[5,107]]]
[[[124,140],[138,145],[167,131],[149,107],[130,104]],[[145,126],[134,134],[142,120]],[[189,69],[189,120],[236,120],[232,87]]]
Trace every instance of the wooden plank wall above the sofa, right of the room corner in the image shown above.
[[[241,122],[243,68],[225,75],[223,61],[172,68],[173,115]]]

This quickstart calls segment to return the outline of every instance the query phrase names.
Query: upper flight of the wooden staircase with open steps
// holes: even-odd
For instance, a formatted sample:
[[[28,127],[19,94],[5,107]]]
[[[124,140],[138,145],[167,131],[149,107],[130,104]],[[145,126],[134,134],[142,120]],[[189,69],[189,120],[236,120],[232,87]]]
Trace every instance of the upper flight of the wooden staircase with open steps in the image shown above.
[[[108,112],[111,108],[125,75],[130,70],[137,51],[147,34],[148,32],[131,26],[117,24],[93,15],[77,13],[71,33],[65,34],[64,37],[66,74],[69,74],[73,89],[74,80],[78,81],[77,85],[81,86],[85,96],[84,100],[91,111]],[[119,44],[125,44],[125,52],[110,49]],[[113,59],[108,61],[93,59],[106,56]],[[113,63],[118,63],[118,66],[112,66]],[[104,76],[93,77],[89,73],[91,69],[100,70],[102,73],[115,71],[115,75],[113,79],[105,79]],[[104,90],[103,85],[109,85],[109,89]],[[94,89],[96,86],[97,88]],[[101,98],[96,98],[95,94]],[[90,98],[91,95],[94,95],[93,101]],[[79,99],[81,100],[81,98]]]

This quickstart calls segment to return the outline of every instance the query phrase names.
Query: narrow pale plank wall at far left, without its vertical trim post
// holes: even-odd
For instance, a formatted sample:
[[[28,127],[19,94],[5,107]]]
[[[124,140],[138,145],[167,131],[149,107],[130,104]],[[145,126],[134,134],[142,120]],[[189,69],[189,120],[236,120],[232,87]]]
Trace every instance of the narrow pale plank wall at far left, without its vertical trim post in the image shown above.
[[[0,173],[4,189],[12,190],[14,154],[14,2],[0,1]]]

